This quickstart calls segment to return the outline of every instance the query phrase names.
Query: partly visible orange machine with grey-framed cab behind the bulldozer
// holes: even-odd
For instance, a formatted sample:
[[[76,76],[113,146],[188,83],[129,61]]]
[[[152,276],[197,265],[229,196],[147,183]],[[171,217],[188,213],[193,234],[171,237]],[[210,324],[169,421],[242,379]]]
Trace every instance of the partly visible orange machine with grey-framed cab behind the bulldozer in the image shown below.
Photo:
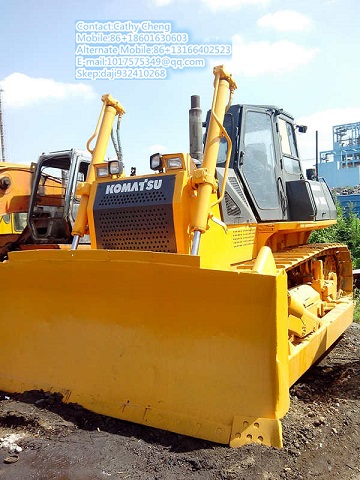
[[[89,156],[81,150],[42,154],[30,166],[0,163],[0,258],[8,251],[70,244]]]

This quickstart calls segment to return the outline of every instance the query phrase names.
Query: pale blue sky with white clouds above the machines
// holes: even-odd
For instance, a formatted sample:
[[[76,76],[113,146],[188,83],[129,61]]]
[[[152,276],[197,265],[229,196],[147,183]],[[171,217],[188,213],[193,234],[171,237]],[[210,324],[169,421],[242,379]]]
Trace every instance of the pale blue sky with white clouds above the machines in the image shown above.
[[[187,34],[187,47],[230,45],[232,55],[197,55],[205,66],[168,67],[165,79],[79,79],[75,29],[81,21],[124,28],[126,22],[145,22],[153,35],[159,33],[155,28],[167,33],[161,29],[170,24],[170,33],[180,35],[167,44],[174,52],[184,43],[173,39],[184,41]],[[101,95],[111,93],[126,111],[126,172],[135,166],[147,173],[151,154],[189,151],[190,96],[200,95],[206,112],[213,66],[225,64],[238,86],[233,103],[276,105],[308,125],[298,138],[308,168],[315,162],[316,131],[320,151],[328,150],[333,125],[360,121],[359,21],[358,0],[0,0],[6,160],[31,163],[43,152],[85,149]],[[129,38],[120,39],[121,45]],[[132,45],[143,44],[139,38],[131,37]],[[150,46],[164,46],[156,43],[159,37],[152,40]],[[115,158],[111,147],[108,155]]]

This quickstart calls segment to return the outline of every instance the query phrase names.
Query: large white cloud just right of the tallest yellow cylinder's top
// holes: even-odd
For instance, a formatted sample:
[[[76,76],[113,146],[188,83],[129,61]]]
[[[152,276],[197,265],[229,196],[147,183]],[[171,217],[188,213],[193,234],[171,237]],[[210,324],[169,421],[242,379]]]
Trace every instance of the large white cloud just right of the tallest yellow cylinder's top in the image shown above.
[[[234,35],[232,60],[226,66],[234,75],[248,77],[284,73],[309,63],[318,52],[318,48],[306,48],[288,40],[246,43],[240,35]]]

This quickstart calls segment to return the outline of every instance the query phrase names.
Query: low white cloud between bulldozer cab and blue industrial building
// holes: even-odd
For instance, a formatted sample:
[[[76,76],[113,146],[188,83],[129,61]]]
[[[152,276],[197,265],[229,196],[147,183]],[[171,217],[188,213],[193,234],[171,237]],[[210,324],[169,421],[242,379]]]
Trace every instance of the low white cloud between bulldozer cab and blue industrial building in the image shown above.
[[[318,131],[319,152],[332,150],[332,127],[343,123],[360,121],[360,106],[332,108],[296,119],[299,125],[307,125],[306,134],[298,135],[300,156],[304,161],[315,163],[315,135]]]

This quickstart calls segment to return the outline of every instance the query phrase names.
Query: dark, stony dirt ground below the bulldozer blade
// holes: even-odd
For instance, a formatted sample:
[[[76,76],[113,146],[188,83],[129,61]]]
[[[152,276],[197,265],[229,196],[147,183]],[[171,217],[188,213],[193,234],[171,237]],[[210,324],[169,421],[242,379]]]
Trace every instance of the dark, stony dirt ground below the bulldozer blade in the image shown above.
[[[360,480],[360,324],[291,389],[284,448],[240,449],[0,392],[0,479]],[[11,361],[11,360],[9,360]]]

